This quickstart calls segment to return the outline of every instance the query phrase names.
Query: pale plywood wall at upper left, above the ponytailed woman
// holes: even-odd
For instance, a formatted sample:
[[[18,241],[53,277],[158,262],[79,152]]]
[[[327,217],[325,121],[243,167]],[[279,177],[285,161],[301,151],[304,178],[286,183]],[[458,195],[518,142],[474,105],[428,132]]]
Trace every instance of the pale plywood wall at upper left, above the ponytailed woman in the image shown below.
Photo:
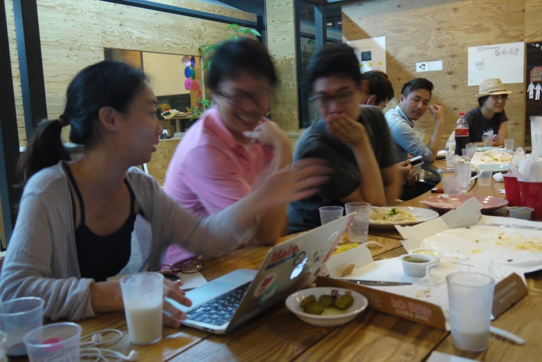
[[[3,1],[8,14],[19,142],[26,145],[12,1]],[[254,14],[200,1],[157,2],[256,21]],[[199,46],[221,42],[227,36],[228,24],[105,1],[47,0],[38,1],[37,5],[49,118],[62,114],[69,81],[85,66],[103,60],[103,48],[199,55]],[[66,127],[65,140],[68,134]]]

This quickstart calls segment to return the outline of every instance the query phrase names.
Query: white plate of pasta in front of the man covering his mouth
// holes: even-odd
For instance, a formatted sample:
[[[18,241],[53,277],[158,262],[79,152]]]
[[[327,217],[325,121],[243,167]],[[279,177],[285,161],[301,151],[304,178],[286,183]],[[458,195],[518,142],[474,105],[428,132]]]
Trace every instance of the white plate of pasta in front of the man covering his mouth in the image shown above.
[[[369,213],[369,227],[395,230],[395,225],[416,225],[435,219],[435,217],[438,217],[438,212],[427,208],[411,208],[409,206],[379,208],[371,206]]]

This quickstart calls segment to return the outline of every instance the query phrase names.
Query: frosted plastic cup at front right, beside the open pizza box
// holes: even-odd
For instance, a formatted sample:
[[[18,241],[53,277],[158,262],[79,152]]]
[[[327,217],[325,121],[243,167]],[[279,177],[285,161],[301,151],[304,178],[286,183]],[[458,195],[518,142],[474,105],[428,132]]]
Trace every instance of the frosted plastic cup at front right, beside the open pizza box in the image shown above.
[[[452,273],[446,277],[452,343],[460,350],[487,348],[495,280],[478,273]]]

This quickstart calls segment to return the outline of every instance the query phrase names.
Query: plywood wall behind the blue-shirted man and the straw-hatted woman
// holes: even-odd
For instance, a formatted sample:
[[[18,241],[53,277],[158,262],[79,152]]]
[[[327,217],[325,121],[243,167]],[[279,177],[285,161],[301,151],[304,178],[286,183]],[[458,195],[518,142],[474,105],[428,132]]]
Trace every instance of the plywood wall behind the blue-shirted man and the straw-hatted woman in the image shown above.
[[[444,135],[453,131],[458,114],[477,107],[478,86],[467,85],[469,46],[523,42],[542,33],[539,0],[379,0],[343,6],[346,40],[386,36],[387,73],[396,97],[386,111],[397,105],[404,82],[427,78],[435,84],[433,100],[444,106]],[[442,60],[443,70],[416,73],[416,62]],[[524,83],[507,84],[514,91],[506,106],[507,132],[516,143],[525,139]],[[435,121],[428,111],[417,128],[431,136]]]

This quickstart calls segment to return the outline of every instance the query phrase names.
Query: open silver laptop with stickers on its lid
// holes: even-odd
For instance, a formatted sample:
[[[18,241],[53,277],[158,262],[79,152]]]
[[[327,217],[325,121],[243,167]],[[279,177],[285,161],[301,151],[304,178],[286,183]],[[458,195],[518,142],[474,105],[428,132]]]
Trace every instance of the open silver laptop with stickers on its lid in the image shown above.
[[[346,215],[273,246],[258,271],[237,269],[188,291],[192,307],[167,299],[188,316],[183,325],[226,334],[314,282],[352,219]]]

